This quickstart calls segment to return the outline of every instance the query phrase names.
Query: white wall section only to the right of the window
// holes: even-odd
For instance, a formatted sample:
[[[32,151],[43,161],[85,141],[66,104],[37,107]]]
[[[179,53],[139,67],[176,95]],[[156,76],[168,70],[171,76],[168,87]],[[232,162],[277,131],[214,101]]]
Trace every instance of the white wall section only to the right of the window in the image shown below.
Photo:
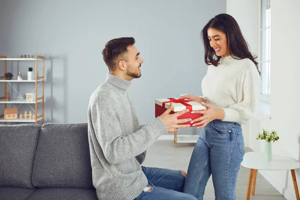
[[[300,64],[298,62],[300,40],[300,1],[271,1],[271,126],[280,135],[274,145],[274,153],[299,160],[300,154]],[[297,170],[299,183],[299,171]],[[270,172],[286,190],[294,194],[290,172]]]

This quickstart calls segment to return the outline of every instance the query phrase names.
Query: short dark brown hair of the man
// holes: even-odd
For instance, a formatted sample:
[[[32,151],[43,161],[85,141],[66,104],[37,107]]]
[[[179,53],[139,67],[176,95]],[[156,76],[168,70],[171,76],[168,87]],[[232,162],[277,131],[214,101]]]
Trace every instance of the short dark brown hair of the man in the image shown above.
[[[127,46],[133,45],[135,40],[133,37],[119,37],[109,40],[102,50],[103,60],[108,66],[109,71],[116,69],[120,59],[126,60],[124,54],[127,52]]]

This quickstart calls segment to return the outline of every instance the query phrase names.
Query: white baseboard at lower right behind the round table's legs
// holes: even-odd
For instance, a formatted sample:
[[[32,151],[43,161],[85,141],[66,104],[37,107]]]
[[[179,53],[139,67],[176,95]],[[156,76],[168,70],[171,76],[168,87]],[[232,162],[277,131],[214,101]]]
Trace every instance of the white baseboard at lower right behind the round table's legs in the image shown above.
[[[268,171],[258,170],[258,172],[277,189],[287,200],[294,200],[296,197],[281,185]]]

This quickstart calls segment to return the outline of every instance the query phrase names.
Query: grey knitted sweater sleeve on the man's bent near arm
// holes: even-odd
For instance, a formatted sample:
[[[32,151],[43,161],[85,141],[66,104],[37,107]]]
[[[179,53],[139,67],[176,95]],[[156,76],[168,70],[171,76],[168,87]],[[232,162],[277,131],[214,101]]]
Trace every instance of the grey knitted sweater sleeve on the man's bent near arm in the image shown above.
[[[123,135],[114,105],[109,100],[95,100],[90,105],[89,117],[103,154],[111,164],[143,153],[160,135],[167,132],[161,118],[157,117],[139,130]]]

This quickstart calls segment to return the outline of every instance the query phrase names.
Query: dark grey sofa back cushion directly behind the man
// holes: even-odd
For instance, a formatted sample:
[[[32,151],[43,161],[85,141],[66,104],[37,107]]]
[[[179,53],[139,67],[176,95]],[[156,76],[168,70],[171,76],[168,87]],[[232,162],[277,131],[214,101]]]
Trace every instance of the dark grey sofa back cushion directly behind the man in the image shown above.
[[[94,188],[87,123],[45,123],[40,128],[33,163],[36,187]]]

